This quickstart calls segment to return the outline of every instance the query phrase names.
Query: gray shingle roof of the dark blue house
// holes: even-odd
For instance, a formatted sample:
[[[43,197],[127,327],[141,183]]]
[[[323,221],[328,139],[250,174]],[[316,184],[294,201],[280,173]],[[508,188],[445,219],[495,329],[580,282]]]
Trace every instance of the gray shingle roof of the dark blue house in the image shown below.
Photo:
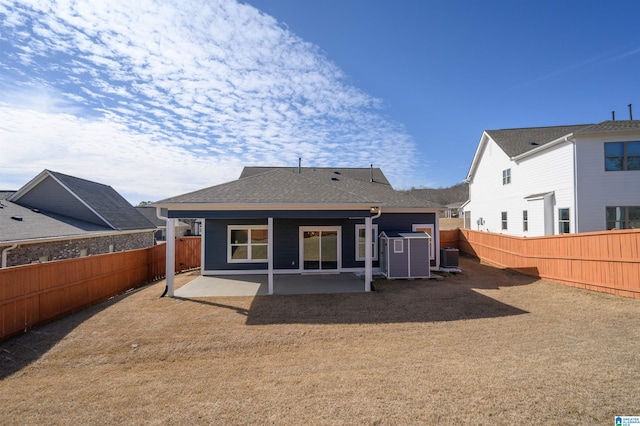
[[[370,169],[302,168],[298,173],[298,168],[291,167],[247,167],[238,180],[154,204],[381,204],[441,208],[395,191],[379,169],[374,169],[374,182],[370,182],[370,176]]]

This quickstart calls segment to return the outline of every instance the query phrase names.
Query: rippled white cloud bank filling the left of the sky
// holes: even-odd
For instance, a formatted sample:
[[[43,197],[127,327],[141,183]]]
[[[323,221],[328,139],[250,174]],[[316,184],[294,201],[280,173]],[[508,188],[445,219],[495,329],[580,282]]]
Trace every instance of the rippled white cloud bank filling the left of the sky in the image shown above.
[[[383,166],[415,143],[317,46],[234,0],[0,4],[0,184],[43,168],[132,202],[243,165]]]

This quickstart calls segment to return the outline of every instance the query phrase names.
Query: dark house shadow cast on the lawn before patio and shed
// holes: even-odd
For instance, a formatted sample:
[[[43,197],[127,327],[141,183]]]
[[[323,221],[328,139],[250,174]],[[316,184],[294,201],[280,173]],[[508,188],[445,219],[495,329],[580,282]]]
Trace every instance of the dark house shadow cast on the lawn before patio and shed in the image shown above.
[[[377,280],[371,293],[257,296],[247,325],[384,324],[498,318],[528,313],[485,296],[536,278],[466,259],[464,273],[437,280]]]

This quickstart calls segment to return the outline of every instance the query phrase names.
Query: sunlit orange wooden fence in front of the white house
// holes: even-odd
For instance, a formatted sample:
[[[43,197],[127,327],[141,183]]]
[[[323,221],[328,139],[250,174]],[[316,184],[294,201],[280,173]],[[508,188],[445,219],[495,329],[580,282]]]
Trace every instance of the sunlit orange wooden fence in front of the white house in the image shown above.
[[[572,287],[640,299],[640,229],[522,238],[460,229],[459,249]]]

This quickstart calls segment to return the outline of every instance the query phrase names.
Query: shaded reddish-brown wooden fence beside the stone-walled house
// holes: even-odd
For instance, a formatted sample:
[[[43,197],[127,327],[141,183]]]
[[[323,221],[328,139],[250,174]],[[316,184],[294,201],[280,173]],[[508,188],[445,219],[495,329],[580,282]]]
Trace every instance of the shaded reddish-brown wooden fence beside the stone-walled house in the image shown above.
[[[0,269],[0,339],[165,276],[164,244]],[[200,237],[176,239],[176,272],[200,266]]]

